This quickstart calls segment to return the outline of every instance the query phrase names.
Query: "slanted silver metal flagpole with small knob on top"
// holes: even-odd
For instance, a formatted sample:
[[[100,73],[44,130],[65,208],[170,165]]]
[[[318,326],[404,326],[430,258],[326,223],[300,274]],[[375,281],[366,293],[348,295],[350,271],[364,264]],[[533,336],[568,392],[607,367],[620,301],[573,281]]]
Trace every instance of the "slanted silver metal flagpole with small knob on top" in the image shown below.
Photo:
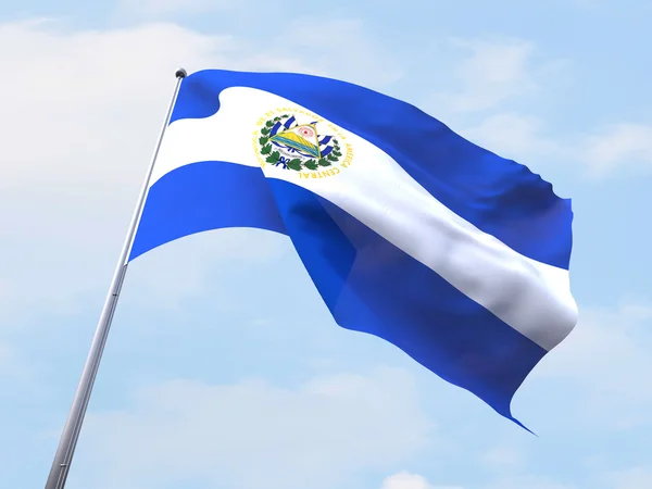
[[[120,291],[127,273],[129,252],[134,241],[134,236],[136,235],[136,228],[142,213],[152,170],[159,154],[159,149],[161,148],[161,141],[163,140],[165,128],[170,124],[170,117],[172,116],[172,110],[178,96],[181,80],[186,77],[186,71],[184,68],[178,68],[175,73],[175,76],[177,78],[177,83],[172,96],[172,100],[170,101],[170,106],[167,108],[165,122],[161,128],[159,140],[156,141],[152,159],[147,170],[147,176],[142,184],[142,188],[140,189],[140,196],[138,197],[136,210],[134,211],[134,216],[131,217],[131,223],[129,224],[129,228],[127,230],[127,236],[120,254],[120,260],[113,275],[113,280],[111,281],[111,287],[109,288],[106,301],[104,302],[104,308],[102,309],[102,314],[100,315],[100,321],[90,344],[90,351],[88,352],[88,358],[86,359],[86,364],[84,365],[84,371],[82,372],[82,378],[79,379],[79,385],[77,386],[77,391],[75,392],[75,398],[73,399],[73,405],[71,406],[67,421],[63,428],[63,432],[61,434],[59,448],[57,449],[57,453],[54,455],[54,462],[52,462],[52,468],[50,468],[50,475],[48,476],[48,481],[46,482],[46,489],[63,489],[65,487],[65,481],[71,469],[73,454],[75,452],[75,447],[77,446],[79,431],[82,430],[82,424],[84,423],[84,416],[86,415],[86,409],[88,408],[88,401],[92,391],[92,385],[100,367],[100,361],[102,360],[104,346],[106,344],[106,337],[109,336],[109,329],[111,328],[111,321],[113,319],[115,305],[117,304]]]

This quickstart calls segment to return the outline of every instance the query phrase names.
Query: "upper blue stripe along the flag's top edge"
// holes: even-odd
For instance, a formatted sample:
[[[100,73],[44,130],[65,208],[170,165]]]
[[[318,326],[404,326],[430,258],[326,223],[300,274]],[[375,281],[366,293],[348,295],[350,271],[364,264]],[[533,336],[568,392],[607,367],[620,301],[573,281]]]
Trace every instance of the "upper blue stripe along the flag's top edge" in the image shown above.
[[[208,117],[228,87],[303,105],[371,141],[447,208],[513,250],[568,268],[570,200],[527,167],[453,133],[413,105],[344,82],[287,73],[202,71],[184,79],[172,121]]]

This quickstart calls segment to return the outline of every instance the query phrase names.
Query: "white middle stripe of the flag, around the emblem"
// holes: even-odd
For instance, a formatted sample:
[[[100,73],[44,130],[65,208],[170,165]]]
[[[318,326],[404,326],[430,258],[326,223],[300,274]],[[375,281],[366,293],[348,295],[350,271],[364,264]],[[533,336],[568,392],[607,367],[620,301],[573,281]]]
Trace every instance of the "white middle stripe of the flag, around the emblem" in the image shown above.
[[[279,108],[310,112],[273,93],[243,87],[224,90],[220,101],[215,115],[170,126],[152,184],[179,166],[200,161],[259,166],[252,140],[261,116],[269,118],[265,113]],[[328,121],[319,122],[319,133],[333,134],[328,125]],[[371,142],[341,128],[336,136],[342,152],[349,143],[354,154],[352,164],[338,175],[301,178],[298,172],[269,165],[265,175],[304,187],[338,205],[540,347],[552,349],[573,329],[577,306],[567,271],[526,258],[479,230]]]

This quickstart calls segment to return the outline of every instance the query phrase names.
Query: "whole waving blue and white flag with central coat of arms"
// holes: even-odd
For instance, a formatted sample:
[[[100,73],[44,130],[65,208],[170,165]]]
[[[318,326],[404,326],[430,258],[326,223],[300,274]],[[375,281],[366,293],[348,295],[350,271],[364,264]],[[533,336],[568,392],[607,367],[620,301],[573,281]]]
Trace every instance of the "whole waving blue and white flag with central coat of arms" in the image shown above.
[[[292,240],[340,326],[512,417],[577,321],[570,201],[405,102],[286,73],[181,82],[129,260],[209,229]]]

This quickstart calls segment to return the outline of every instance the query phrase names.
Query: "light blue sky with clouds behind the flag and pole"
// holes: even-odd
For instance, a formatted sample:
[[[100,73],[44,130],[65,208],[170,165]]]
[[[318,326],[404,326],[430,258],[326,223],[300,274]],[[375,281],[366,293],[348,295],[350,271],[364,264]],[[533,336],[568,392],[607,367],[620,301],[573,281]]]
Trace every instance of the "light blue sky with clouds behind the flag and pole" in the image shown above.
[[[186,238],[129,269],[67,488],[652,487],[651,23],[645,0],[0,4],[4,486],[45,485],[183,65],[366,85],[541,173],[574,199],[580,321],[514,400],[537,438],[338,328],[286,238]]]

